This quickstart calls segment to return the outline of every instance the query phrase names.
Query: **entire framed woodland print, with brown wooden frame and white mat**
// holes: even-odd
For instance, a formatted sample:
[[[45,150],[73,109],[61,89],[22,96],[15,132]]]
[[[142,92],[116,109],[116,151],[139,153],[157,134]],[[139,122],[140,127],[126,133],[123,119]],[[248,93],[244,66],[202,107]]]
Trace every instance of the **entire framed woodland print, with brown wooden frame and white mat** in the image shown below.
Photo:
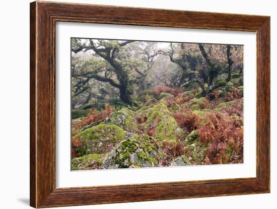
[[[30,205],[270,192],[270,18],[30,4]]]

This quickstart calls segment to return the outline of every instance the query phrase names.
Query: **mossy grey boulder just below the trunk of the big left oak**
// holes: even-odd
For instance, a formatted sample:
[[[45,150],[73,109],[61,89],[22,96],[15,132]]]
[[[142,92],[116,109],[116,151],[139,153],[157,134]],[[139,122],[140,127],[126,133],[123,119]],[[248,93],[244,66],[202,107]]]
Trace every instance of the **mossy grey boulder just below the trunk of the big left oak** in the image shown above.
[[[138,131],[135,113],[129,109],[122,108],[112,113],[104,120],[105,124],[114,124],[128,132],[136,133]]]

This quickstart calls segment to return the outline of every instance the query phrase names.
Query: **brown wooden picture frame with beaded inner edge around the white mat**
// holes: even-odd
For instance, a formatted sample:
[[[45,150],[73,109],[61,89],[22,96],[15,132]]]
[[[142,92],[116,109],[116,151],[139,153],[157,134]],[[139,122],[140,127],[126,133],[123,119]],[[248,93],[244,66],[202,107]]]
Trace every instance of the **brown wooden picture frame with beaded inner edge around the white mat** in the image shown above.
[[[55,187],[55,23],[256,32],[256,177]],[[30,205],[53,207],[270,192],[270,17],[85,4],[30,4]]]

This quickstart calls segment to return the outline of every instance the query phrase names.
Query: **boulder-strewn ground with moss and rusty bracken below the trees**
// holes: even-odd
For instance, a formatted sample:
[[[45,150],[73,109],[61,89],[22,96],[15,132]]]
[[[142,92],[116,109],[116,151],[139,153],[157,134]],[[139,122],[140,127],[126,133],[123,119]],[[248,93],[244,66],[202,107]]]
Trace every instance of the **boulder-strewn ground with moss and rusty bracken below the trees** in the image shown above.
[[[159,87],[137,109],[86,110],[72,121],[72,170],[242,163],[243,84],[233,77],[209,97]]]

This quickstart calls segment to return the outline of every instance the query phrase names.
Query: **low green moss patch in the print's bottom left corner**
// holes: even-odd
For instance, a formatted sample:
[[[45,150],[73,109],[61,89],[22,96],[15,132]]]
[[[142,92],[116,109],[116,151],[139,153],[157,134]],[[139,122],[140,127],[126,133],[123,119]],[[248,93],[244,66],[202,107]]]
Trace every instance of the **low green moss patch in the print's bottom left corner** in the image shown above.
[[[98,154],[84,155],[80,158],[73,158],[71,161],[72,170],[87,170],[91,168],[98,168],[103,163],[103,158]]]

